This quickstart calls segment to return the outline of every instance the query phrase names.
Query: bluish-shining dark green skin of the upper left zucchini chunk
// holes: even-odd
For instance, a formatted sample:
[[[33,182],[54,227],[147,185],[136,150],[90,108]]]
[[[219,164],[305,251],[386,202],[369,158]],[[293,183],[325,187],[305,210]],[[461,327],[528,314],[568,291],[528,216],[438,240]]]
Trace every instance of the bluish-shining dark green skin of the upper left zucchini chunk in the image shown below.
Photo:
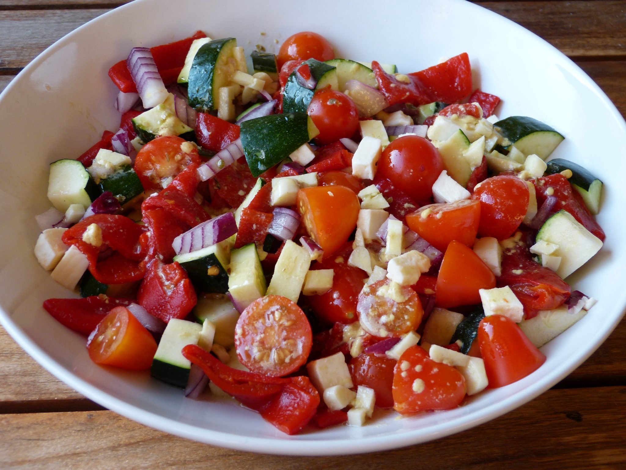
[[[216,66],[222,51],[230,51],[235,46],[237,39],[223,38],[203,44],[198,49],[189,70],[187,93],[190,107],[202,112],[215,109],[218,93],[217,87],[213,86],[218,73]]]

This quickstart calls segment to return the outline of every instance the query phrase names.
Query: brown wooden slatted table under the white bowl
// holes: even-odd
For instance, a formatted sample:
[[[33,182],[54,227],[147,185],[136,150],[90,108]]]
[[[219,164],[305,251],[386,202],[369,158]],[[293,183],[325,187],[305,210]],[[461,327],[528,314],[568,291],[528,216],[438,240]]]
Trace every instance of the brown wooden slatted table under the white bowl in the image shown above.
[[[0,90],[49,44],[120,3],[0,0]],[[480,4],[557,46],[626,115],[625,0]],[[476,33],[497,39],[498,31],[476,26]],[[593,116],[581,110],[581,118]],[[552,390],[456,436],[373,455],[297,458],[198,444],[104,410],[54,379],[0,328],[0,468],[623,469],[625,344],[626,320]]]

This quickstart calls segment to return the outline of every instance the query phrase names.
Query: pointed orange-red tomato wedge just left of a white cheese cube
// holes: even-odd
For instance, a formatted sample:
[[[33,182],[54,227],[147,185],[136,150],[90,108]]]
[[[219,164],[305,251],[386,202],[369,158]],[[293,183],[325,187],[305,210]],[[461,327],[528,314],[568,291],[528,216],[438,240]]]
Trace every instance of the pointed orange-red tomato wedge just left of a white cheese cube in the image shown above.
[[[471,248],[452,241],[437,277],[436,305],[443,308],[480,303],[480,289],[493,289],[496,277]]]

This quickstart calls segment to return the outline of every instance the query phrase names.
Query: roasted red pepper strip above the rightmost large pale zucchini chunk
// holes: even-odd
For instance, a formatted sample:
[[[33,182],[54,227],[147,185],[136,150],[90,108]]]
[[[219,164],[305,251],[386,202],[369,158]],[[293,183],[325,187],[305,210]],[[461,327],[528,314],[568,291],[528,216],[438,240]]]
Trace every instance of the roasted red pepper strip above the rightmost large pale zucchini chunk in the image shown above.
[[[552,191],[549,191],[552,192],[552,196],[557,197],[557,204],[555,204],[550,215],[565,209],[588,231],[604,241],[605,234],[602,227],[598,225],[598,222],[595,221],[591,212],[585,206],[582,196],[572,188],[570,182],[562,174],[556,173],[535,180],[537,204],[539,207],[547,199],[549,188],[552,188]]]

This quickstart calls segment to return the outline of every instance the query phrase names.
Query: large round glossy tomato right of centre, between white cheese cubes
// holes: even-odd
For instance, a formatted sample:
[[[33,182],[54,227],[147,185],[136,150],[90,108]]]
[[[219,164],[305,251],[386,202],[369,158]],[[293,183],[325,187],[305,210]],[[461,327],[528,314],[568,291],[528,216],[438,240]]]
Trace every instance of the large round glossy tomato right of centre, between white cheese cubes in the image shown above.
[[[427,201],[442,171],[443,160],[433,144],[417,135],[405,135],[382,152],[375,181],[388,179],[415,201]]]

